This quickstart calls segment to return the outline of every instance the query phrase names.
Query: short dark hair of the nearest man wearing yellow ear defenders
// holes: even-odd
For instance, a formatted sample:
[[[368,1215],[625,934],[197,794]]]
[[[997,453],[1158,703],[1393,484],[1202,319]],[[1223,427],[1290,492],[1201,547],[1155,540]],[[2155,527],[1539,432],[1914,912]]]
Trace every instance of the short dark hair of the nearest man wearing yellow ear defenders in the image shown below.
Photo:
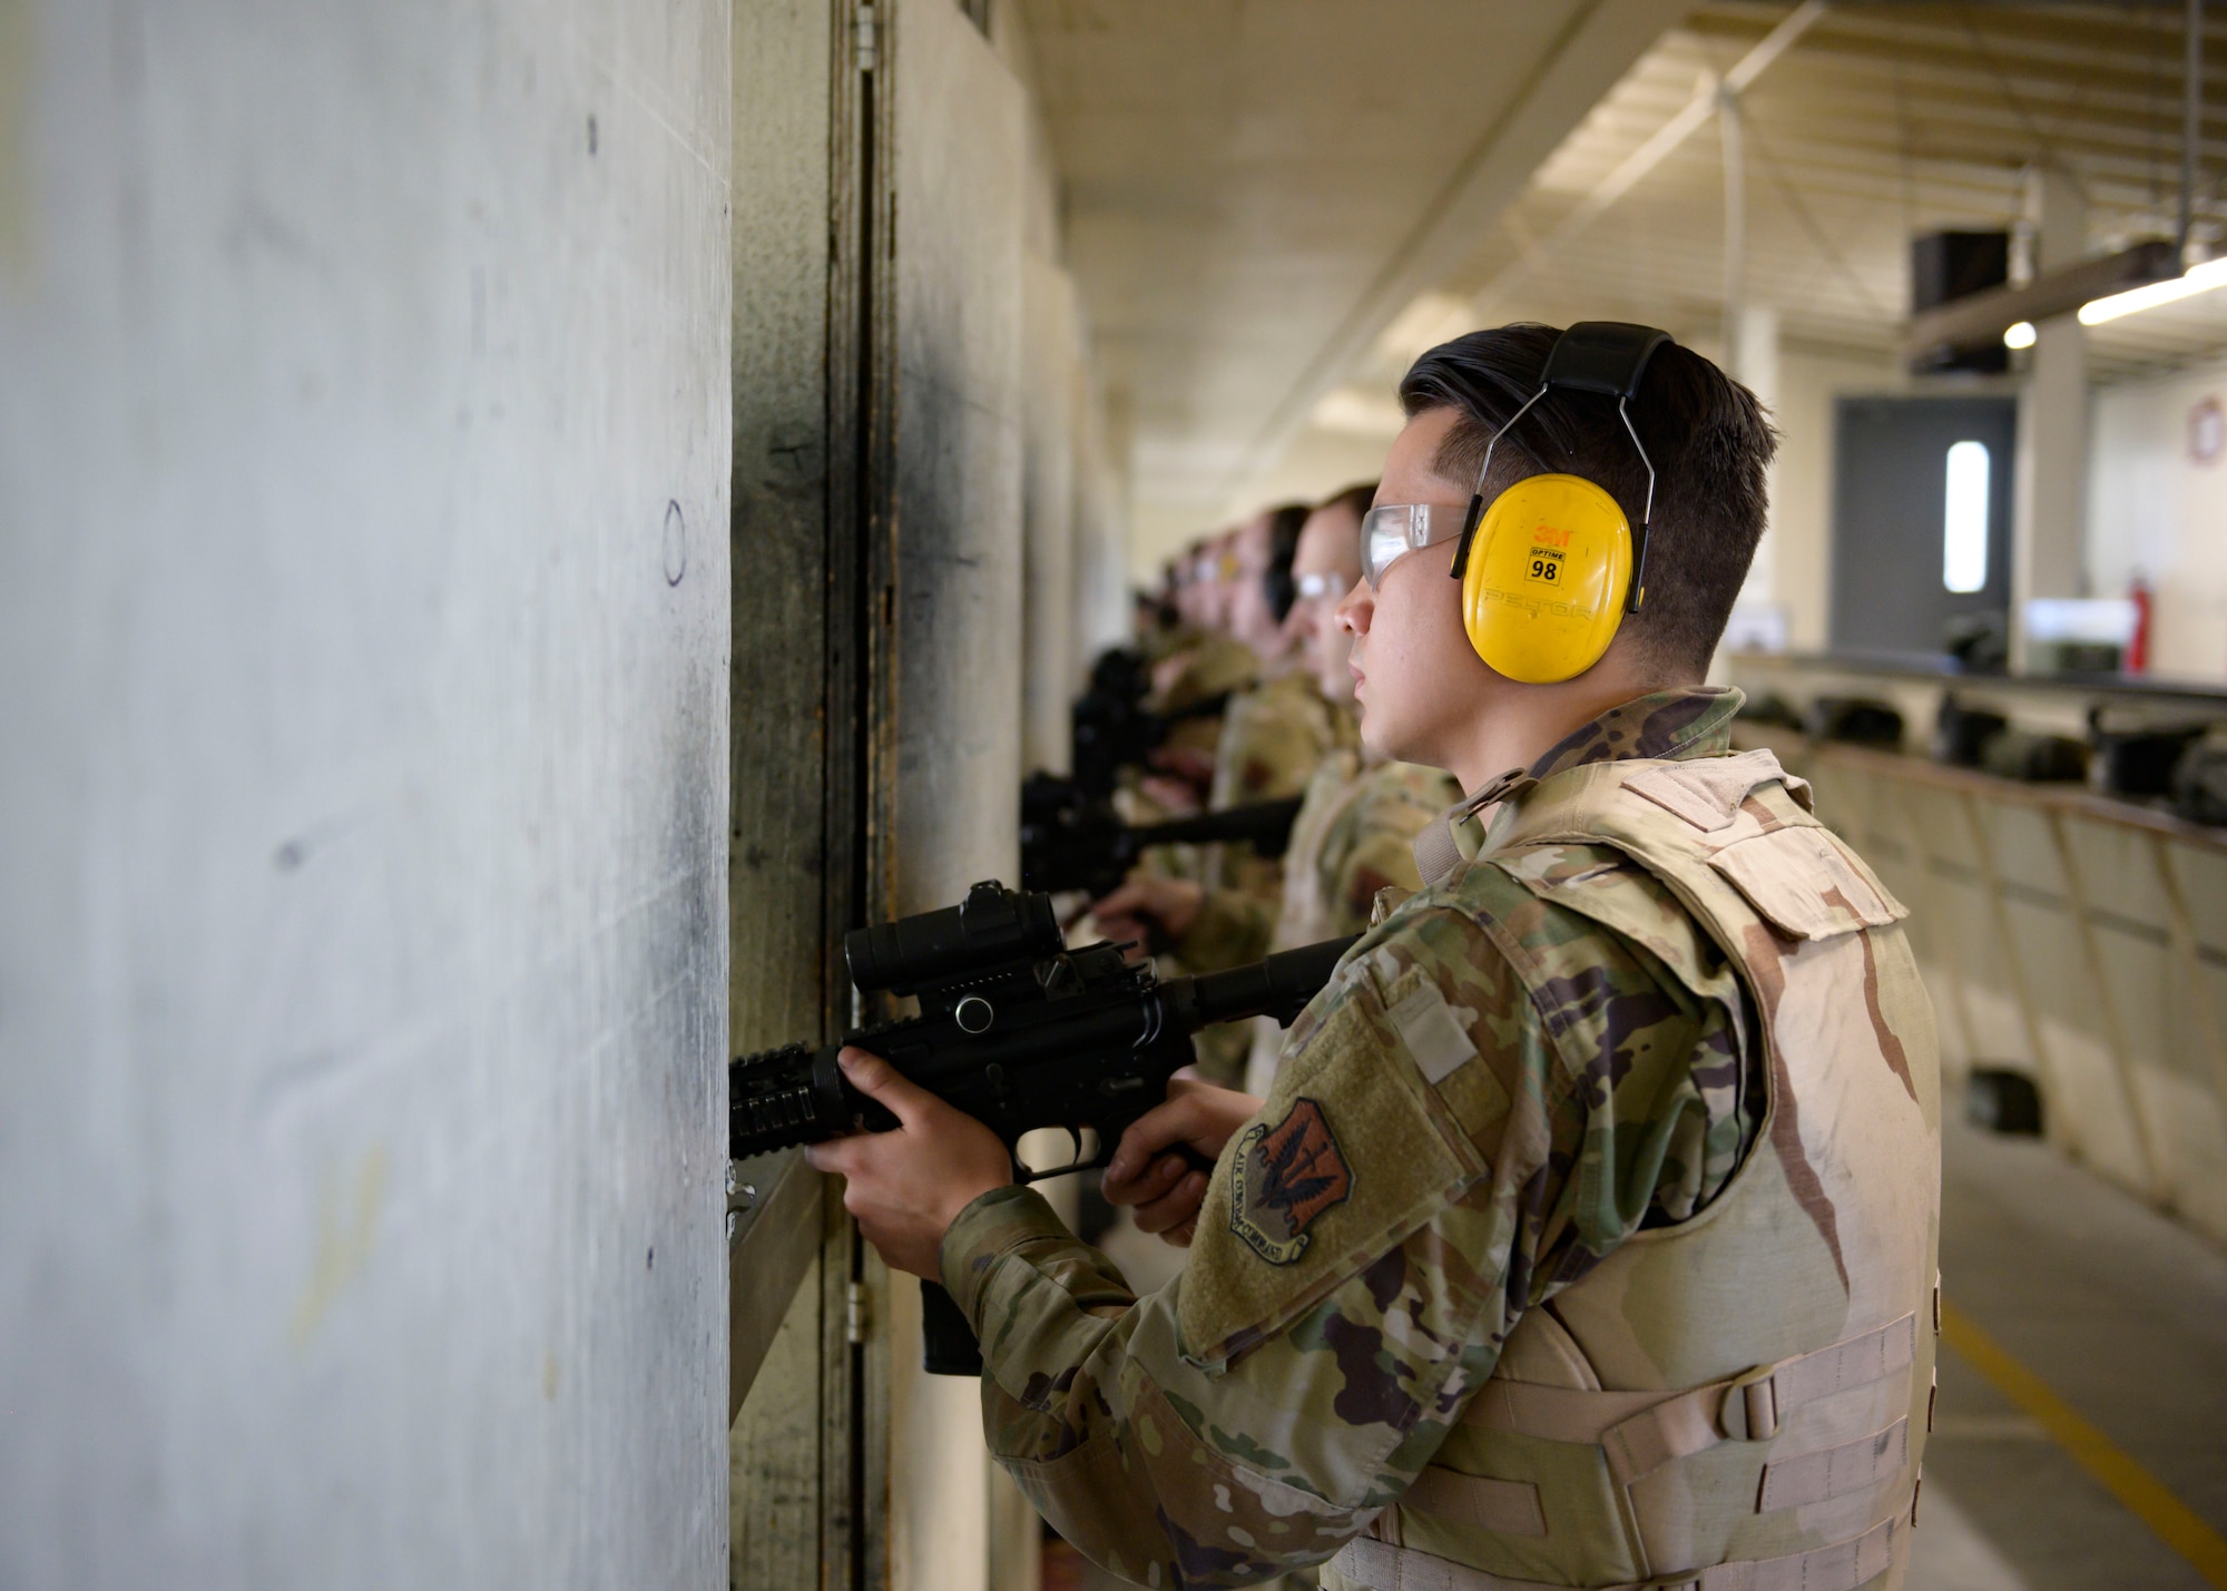
[[[1539,390],[1557,336],[1552,325],[1501,325],[1439,343],[1414,361],[1399,383],[1407,417],[1432,408],[1461,417],[1439,443],[1432,470],[1465,490],[1477,481],[1492,432]],[[1657,666],[1701,675],[1764,535],[1764,472],[1779,435],[1753,392],[1677,343],[1655,350],[1630,417],[1655,461],[1655,524],[1648,599],[1626,624]],[[1639,526],[1648,472],[1612,399],[1570,392],[1539,399],[1492,455],[1485,497],[1541,470],[1597,481]]]

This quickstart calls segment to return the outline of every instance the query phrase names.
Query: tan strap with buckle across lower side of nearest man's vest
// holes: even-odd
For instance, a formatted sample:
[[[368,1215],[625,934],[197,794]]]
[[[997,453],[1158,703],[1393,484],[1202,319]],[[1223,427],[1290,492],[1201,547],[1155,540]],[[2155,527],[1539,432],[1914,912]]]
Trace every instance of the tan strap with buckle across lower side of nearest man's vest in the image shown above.
[[[1779,1422],[1819,1397],[1882,1382],[1917,1357],[1917,1315],[1862,1337],[1757,1366],[1686,1393],[1610,1393],[1583,1386],[1485,1382],[1463,1424],[1514,1431],[1548,1442],[1595,1444],[1619,1486],[1675,1457],[1719,1442],[1768,1442]]]

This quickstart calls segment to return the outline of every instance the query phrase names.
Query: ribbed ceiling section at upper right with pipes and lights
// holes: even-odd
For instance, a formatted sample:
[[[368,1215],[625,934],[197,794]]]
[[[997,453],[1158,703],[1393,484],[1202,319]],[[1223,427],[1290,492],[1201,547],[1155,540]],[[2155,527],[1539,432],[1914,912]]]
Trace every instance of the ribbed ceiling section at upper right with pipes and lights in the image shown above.
[[[1670,31],[1441,283],[1456,321],[1628,314],[1715,339],[1724,152],[1715,118],[1574,241],[1534,238],[1793,7],[1715,0]],[[2227,221],[2227,11],[2207,27],[2209,160],[2198,216]],[[2091,250],[2169,234],[2180,178],[2180,7],[1840,4],[1742,98],[1748,299],[1797,345],[1900,348],[1909,238],[2009,227],[2024,172],[2067,167]],[[2091,332],[2098,379],[2227,345],[2227,294]],[[1394,357],[1399,350],[1385,350]]]

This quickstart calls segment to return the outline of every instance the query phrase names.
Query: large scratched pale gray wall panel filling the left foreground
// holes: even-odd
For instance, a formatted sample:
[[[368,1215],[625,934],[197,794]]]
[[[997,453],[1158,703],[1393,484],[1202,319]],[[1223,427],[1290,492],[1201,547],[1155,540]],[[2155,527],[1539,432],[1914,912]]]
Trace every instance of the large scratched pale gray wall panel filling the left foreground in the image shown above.
[[[0,1587],[710,1587],[722,0],[0,0]]]

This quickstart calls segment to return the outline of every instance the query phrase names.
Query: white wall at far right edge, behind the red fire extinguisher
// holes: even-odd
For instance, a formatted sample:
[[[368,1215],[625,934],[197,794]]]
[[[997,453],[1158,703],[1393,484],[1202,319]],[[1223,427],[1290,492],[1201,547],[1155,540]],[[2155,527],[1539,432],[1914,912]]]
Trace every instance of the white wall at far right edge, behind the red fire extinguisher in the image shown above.
[[[2087,579],[2122,597],[2140,570],[2156,593],[2149,666],[2227,677],[2227,459],[2189,450],[2200,403],[2227,406],[2227,361],[2102,388],[2089,399]]]

